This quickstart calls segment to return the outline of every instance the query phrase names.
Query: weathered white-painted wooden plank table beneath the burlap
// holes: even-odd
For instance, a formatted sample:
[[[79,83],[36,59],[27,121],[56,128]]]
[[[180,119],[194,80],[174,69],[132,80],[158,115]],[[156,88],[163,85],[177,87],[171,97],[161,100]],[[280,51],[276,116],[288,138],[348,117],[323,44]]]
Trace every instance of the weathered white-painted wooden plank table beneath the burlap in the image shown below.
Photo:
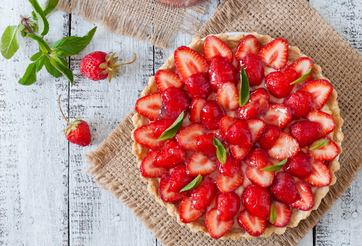
[[[40,0],[41,1],[41,0]],[[42,2],[42,1],[41,1]],[[355,48],[362,52],[362,0],[310,0]],[[211,0],[201,24],[219,4]],[[28,1],[0,3],[0,30],[20,21],[30,11]],[[75,15],[51,14],[50,43],[63,36],[84,35],[94,24]],[[156,239],[131,212],[85,174],[83,156],[96,148],[129,112],[140,91],[170,53],[188,44],[191,35],[178,34],[169,49],[160,49],[119,36],[102,27],[90,45],[70,59],[75,82],[54,79],[42,70],[38,82],[26,87],[17,81],[24,73],[34,40],[22,39],[10,60],[0,59],[0,245],[157,246]],[[24,40],[26,40],[24,42]],[[121,75],[111,83],[89,81],[79,72],[81,58],[90,52],[114,51],[123,61]],[[63,111],[73,120],[78,114],[90,125],[88,147],[68,144],[62,136]],[[362,245],[362,174],[332,210],[303,238],[299,246]]]

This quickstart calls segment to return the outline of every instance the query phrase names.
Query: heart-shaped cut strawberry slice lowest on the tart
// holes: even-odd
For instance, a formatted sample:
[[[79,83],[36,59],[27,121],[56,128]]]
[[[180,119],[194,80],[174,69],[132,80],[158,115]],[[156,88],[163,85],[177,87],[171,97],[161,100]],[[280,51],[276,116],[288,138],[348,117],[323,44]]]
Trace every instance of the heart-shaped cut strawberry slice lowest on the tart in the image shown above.
[[[211,208],[211,210],[207,212],[205,216],[207,232],[209,232],[210,237],[214,239],[218,239],[224,236],[225,233],[230,230],[233,223],[233,220],[222,221],[216,208]]]

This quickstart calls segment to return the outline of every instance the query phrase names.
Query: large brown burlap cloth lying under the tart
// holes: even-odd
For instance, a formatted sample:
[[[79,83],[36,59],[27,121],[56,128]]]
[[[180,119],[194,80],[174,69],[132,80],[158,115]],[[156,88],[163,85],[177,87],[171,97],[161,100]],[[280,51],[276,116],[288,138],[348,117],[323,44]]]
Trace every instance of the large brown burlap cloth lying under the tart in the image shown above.
[[[100,147],[87,156],[88,171],[98,185],[129,207],[164,246],[296,245],[341,197],[362,167],[362,56],[306,0],[224,1],[198,31],[198,36],[232,31],[256,31],[275,38],[283,37],[321,65],[323,75],[331,79],[338,92],[340,115],[345,120],[337,182],[330,187],[317,210],[282,235],[216,242],[202,232],[191,233],[188,227],[177,224],[175,217],[170,217],[166,208],[148,193],[147,184],[139,178],[137,163],[131,154],[134,111],[130,112]]]

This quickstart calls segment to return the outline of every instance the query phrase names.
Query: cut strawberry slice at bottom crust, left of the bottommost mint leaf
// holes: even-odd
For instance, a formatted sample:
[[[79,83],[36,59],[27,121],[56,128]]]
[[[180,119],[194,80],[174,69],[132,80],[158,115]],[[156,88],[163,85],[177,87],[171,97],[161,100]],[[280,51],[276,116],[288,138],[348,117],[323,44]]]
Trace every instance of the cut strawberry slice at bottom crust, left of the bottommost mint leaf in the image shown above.
[[[247,210],[244,210],[237,216],[237,223],[251,236],[258,237],[265,230],[266,219],[251,215]]]

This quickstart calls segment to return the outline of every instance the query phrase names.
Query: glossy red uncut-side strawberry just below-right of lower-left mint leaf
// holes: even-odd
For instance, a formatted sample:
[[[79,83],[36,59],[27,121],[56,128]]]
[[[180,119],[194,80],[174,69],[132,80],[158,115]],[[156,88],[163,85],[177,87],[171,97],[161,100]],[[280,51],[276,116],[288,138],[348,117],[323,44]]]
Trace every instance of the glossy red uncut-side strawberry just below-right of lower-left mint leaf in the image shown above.
[[[212,178],[203,177],[200,184],[192,191],[191,207],[200,210],[206,208],[214,199],[217,190]]]

